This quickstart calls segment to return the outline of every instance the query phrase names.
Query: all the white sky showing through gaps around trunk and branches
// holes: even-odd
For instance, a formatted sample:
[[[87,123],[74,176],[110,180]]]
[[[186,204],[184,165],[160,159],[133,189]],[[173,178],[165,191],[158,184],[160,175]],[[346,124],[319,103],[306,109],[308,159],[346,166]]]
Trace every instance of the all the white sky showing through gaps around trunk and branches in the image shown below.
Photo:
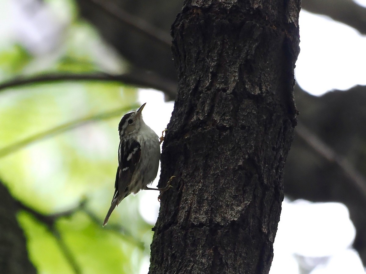
[[[366,0],[357,2],[366,6]],[[14,35],[10,31],[14,18],[8,12],[8,3],[10,1],[0,1],[0,39],[3,46]],[[299,25],[301,51],[295,76],[304,90],[321,95],[333,89],[347,90],[356,84],[366,85],[365,36],[349,26],[306,11],[300,12]],[[165,103],[163,95],[152,90],[142,90],[139,100],[147,102],[143,110],[144,120],[160,136],[169,122],[173,103]],[[153,182],[153,187],[158,179]],[[154,224],[160,206],[158,193],[141,191],[138,195],[142,216]],[[317,265],[310,274],[365,273],[358,254],[349,248],[354,233],[348,211],[339,203],[284,201],[270,274],[299,273],[299,256],[302,256],[304,265]],[[141,274],[147,273],[148,267],[149,260],[146,259]]]

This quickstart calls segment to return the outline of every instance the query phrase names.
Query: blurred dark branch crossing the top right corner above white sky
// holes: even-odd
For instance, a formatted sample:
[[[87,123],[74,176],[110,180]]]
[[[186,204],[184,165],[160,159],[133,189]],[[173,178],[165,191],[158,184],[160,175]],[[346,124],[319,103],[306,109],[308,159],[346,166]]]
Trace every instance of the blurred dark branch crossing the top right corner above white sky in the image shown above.
[[[352,0],[302,0],[301,8],[327,15],[366,34],[366,8]]]

